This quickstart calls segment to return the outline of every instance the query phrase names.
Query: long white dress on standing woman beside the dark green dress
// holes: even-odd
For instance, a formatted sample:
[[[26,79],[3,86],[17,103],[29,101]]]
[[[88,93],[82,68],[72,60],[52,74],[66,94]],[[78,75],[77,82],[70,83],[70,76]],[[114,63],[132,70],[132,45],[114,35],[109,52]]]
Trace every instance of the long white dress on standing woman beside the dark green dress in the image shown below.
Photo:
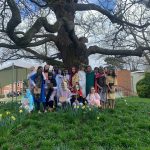
[[[86,97],[86,73],[82,70],[78,71],[79,75],[79,85],[83,94],[83,97]]]

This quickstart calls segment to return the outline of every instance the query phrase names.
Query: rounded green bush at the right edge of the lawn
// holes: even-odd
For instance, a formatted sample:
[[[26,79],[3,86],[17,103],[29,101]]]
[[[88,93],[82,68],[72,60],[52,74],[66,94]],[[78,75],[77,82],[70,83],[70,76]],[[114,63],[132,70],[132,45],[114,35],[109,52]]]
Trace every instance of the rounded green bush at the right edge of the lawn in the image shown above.
[[[144,79],[137,83],[136,89],[139,97],[150,98],[150,73],[145,73]]]

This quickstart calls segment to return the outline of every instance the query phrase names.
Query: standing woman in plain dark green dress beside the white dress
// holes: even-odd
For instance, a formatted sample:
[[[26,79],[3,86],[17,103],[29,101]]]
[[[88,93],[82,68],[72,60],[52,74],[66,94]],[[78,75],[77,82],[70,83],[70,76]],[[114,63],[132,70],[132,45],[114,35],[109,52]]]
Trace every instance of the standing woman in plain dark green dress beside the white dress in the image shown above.
[[[86,94],[90,93],[91,87],[94,87],[94,72],[91,66],[88,66],[86,72]]]

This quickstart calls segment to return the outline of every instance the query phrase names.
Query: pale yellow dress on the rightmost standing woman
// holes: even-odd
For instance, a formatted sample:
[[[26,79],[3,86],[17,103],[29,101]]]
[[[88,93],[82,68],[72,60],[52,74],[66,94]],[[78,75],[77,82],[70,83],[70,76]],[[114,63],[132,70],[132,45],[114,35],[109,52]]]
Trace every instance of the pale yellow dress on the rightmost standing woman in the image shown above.
[[[108,85],[107,99],[115,100],[115,86],[117,85],[116,77],[107,76],[106,83]],[[112,86],[111,86],[112,85]]]

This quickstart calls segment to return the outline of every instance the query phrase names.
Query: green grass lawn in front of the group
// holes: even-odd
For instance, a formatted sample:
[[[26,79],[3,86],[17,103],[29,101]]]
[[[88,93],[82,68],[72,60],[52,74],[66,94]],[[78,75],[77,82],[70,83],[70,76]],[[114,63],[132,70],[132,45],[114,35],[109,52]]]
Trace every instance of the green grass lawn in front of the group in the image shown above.
[[[5,111],[19,115],[17,104],[1,105],[0,113]],[[114,111],[35,112],[21,121],[16,120],[8,134],[0,136],[0,149],[150,150],[148,112],[150,99],[138,97],[117,100]]]

